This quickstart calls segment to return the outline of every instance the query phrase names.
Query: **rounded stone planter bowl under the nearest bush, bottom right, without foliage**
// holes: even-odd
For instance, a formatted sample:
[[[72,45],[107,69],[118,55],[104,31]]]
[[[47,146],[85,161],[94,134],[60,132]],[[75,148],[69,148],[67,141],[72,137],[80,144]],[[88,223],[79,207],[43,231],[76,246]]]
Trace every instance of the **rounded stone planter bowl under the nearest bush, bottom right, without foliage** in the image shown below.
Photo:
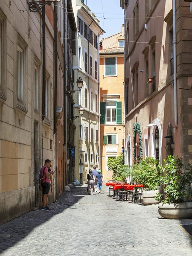
[[[192,218],[192,202],[177,204],[162,204],[159,206],[159,214],[167,219]]]

